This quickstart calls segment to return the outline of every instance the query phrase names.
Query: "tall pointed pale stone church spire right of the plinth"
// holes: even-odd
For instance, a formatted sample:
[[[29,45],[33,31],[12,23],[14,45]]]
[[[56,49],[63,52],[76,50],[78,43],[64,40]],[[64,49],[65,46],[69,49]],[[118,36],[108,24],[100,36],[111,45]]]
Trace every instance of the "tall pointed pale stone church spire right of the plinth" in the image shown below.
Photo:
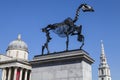
[[[107,58],[105,56],[105,50],[103,41],[101,40],[101,56],[100,56],[100,64],[98,68],[98,80],[111,80],[110,68],[107,64]]]

